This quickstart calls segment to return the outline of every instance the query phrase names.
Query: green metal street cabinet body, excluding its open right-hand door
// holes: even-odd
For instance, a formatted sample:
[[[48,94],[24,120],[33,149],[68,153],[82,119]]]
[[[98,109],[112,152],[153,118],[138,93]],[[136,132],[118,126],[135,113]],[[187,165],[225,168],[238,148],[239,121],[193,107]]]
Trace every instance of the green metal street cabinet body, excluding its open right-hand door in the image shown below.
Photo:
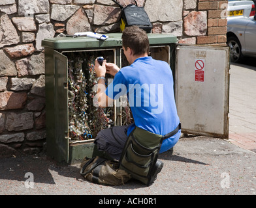
[[[101,152],[88,140],[70,140],[68,107],[68,57],[76,54],[92,54],[108,57],[118,67],[125,65],[121,33],[107,34],[107,40],[85,36],[46,38],[42,40],[45,55],[46,87],[46,145],[48,157],[59,163],[75,163],[84,157],[93,157]],[[172,47],[177,42],[172,34],[148,34],[150,52],[154,59],[170,64]],[[121,107],[114,107],[114,125],[122,125]]]

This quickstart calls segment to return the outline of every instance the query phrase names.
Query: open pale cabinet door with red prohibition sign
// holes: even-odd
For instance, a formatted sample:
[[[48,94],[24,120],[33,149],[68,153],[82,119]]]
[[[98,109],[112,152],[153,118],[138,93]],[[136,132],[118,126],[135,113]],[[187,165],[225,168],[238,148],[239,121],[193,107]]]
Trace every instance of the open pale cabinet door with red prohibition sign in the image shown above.
[[[228,138],[229,48],[176,45],[175,65],[182,132]]]

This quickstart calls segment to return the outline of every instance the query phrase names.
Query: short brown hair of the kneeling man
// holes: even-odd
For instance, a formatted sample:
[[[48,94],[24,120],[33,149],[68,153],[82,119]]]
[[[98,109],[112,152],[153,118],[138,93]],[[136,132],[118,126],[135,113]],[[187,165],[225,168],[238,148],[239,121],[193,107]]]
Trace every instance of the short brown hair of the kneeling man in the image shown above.
[[[121,38],[123,47],[132,49],[133,55],[149,54],[150,42],[146,31],[137,26],[125,27]]]

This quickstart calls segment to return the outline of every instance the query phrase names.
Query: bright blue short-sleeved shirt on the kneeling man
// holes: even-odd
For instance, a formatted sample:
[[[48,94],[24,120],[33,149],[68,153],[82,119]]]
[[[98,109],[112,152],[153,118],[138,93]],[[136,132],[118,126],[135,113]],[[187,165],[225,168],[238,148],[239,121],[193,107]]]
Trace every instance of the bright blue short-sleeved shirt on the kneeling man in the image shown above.
[[[166,135],[180,123],[173,85],[172,71],[167,62],[142,57],[136,59],[131,66],[121,68],[105,93],[112,99],[127,94],[135,120],[127,135],[135,125],[151,133]],[[165,139],[160,153],[172,148],[179,138],[180,131]]]

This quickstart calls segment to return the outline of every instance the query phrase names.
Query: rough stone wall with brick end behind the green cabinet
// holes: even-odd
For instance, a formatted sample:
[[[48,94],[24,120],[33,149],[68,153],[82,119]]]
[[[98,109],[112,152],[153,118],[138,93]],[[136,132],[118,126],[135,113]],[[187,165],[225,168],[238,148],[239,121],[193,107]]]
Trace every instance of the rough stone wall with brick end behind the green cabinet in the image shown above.
[[[119,0],[129,5],[133,0]],[[153,23],[180,43],[225,45],[227,1],[137,0]],[[0,1],[0,155],[37,153],[46,142],[44,51],[60,33],[120,32],[111,0]]]

